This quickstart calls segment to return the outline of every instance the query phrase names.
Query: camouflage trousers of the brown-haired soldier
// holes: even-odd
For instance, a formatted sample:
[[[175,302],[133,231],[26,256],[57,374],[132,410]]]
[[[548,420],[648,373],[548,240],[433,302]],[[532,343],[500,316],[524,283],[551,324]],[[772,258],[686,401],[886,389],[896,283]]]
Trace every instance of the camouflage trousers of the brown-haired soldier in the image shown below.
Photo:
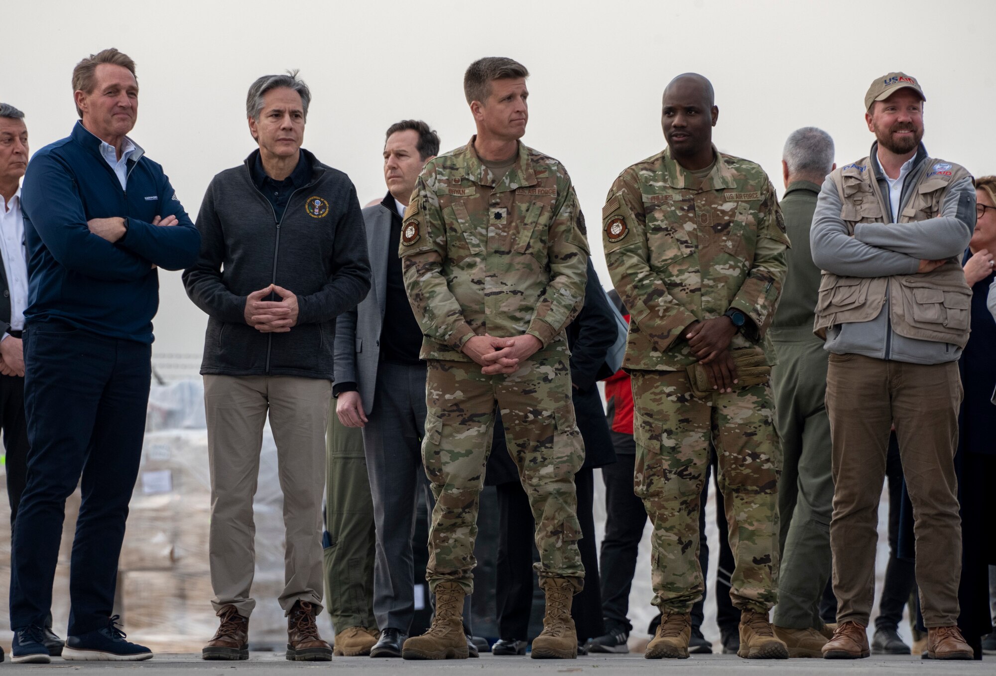
[[[541,577],[584,585],[574,475],[585,450],[571,400],[564,354],[534,356],[513,374],[486,376],[472,362],[428,360],[422,463],[435,496],[429,529],[429,588],[460,583],[473,591],[478,497],[491,452],[496,406],[509,454],[536,520]],[[525,527],[525,524],[523,524]]]

